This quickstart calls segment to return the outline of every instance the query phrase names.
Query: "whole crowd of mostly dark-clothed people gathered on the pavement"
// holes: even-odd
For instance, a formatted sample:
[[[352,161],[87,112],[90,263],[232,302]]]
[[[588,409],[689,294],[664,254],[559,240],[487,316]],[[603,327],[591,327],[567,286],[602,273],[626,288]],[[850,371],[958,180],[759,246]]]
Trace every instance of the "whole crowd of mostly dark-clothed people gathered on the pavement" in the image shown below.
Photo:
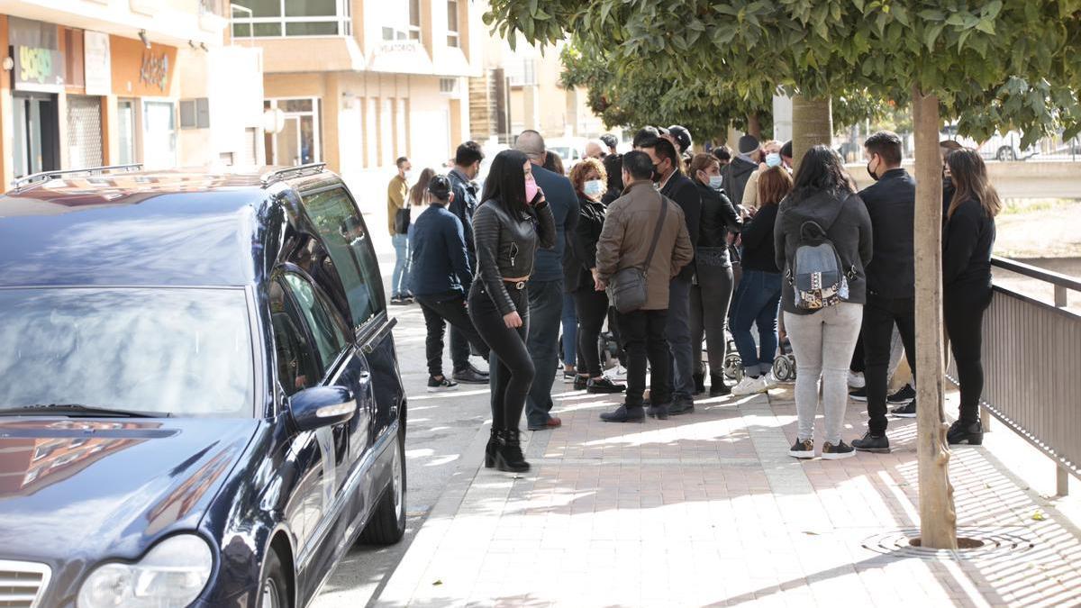
[[[482,189],[476,142],[458,146],[448,175],[425,169],[412,188],[409,159],[397,162],[387,197],[398,255],[391,302],[423,310],[429,391],[490,385],[485,465],[529,470],[521,419],[530,431],[562,425],[551,413],[559,370],[575,389],[624,394],[600,414],[606,422],[664,420],[690,414],[702,395],[775,387],[786,346],[798,413],[789,454],[816,455],[819,405],[823,459],[889,452],[889,414],[913,417],[917,407],[913,383],[888,394],[903,356],[912,382],[917,371],[916,182],[902,167],[900,138],[866,140],[875,183],[859,191],[827,146],[806,150],[793,170],[791,142],[751,135],[709,154],[694,154],[679,125],[640,130],[625,154],[617,144],[612,135],[588,142],[568,176],[540,134],[524,131],[492,159]],[[1001,202],[977,153],[952,142],[942,150],[944,318],[961,386],[947,437],[978,445],[980,322]],[[730,335],[742,367],[731,386]],[[614,374],[604,369],[609,344]],[[866,401],[868,424],[846,442],[850,399]]]

